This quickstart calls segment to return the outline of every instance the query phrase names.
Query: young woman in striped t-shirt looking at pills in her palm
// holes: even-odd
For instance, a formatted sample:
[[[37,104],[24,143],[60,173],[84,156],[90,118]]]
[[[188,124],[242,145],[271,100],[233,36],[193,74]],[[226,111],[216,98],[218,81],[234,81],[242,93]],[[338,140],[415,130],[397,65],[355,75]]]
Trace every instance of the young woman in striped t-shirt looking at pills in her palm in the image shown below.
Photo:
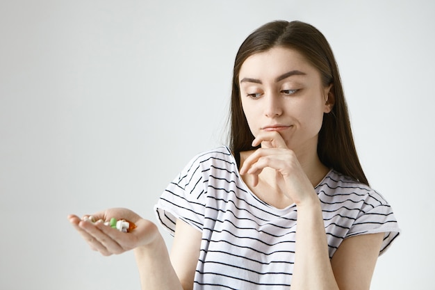
[[[302,22],[270,22],[241,45],[230,146],[195,156],[156,204],[174,235],[128,209],[128,234],[71,215],[93,250],[134,249],[142,289],[369,289],[399,234],[356,155],[336,61]]]

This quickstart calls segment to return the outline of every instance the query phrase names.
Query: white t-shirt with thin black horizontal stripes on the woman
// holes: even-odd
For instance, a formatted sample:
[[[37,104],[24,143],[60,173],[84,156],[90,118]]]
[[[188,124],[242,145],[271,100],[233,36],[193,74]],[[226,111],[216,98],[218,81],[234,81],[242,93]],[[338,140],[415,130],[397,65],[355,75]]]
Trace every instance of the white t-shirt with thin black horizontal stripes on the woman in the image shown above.
[[[384,198],[330,170],[315,186],[329,257],[343,239],[384,232],[380,253],[399,234]],[[177,218],[202,232],[193,289],[288,289],[295,261],[297,207],[263,202],[240,178],[228,147],[193,158],[156,204],[158,220],[174,234]]]

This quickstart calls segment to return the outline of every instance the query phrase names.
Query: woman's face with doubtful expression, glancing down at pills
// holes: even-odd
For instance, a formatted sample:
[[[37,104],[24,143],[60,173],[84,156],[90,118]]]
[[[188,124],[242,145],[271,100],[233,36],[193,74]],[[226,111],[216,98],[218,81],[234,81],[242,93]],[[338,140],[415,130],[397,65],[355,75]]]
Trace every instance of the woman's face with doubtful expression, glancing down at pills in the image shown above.
[[[277,131],[296,153],[317,148],[323,114],[334,106],[334,95],[302,54],[284,47],[253,54],[240,68],[238,81],[254,136]]]

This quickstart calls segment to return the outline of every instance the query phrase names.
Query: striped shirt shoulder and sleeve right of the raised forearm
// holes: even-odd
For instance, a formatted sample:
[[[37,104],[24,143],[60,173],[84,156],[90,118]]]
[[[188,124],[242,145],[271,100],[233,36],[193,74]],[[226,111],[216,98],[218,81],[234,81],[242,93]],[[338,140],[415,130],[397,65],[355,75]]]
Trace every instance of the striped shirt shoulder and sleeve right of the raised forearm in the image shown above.
[[[325,229],[331,236],[345,239],[383,232],[382,253],[399,234],[390,204],[370,186],[331,170],[316,190],[322,202]]]

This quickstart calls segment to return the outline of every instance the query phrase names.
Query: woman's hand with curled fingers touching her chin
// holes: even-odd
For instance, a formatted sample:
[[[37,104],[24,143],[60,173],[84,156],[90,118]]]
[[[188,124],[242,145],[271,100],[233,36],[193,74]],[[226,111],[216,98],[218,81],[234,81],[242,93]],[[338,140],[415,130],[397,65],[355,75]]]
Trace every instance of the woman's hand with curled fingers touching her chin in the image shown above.
[[[306,176],[297,156],[290,150],[282,136],[277,131],[261,132],[256,136],[252,145],[261,148],[256,150],[243,162],[240,175],[252,175],[254,186],[258,184],[258,175],[265,168],[276,171],[275,182],[284,194],[300,205],[305,202],[318,200],[313,185]]]

